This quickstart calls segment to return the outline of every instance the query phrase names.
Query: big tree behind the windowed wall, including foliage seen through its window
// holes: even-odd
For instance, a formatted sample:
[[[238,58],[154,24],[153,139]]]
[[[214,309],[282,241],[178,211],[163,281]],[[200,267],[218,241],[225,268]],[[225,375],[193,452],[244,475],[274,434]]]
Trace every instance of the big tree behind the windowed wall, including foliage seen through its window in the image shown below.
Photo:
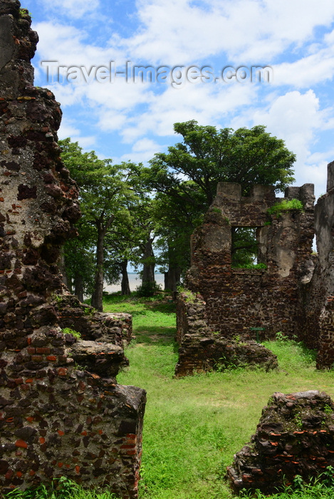
[[[156,154],[150,168],[142,170],[147,187],[157,192],[158,241],[169,272],[189,267],[190,234],[212,204],[218,182],[240,183],[244,195],[256,184],[274,185],[280,191],[293,182],[296,160],[283,140],[262,125],[217,130],[191,120],[175,123],[174,130],[182,135],[182,143]],[[253,258],[251,237],[242,231],[235,237],[240,247],[236,257],[246,261],[249,248],[249,259]]]

